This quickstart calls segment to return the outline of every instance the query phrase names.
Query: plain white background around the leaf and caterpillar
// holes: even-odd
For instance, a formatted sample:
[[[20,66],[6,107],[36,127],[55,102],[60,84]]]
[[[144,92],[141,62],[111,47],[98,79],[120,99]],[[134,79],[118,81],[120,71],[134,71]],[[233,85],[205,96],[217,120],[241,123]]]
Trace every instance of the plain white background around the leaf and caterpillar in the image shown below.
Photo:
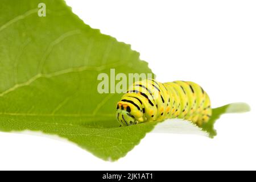
[[[195,81],[223,115],[217,137],[150,133],[125,158],[104,162],[75,144],[0,133],[0,169],[256,169],[255,1],[67,1],[86,24],[141,53],[159,81]]]

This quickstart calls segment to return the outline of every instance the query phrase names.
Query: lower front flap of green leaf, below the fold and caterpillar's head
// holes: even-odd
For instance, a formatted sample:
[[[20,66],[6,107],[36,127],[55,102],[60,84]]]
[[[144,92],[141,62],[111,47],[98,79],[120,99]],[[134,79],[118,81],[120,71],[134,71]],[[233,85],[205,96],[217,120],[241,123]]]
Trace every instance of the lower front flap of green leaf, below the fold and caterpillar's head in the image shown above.
[[[37,119],[35,117],[35,119]],[[132,150],[146,133],[154,129],[155,122],[142,123],[129,127],[95,128],[72,123],[52,122],[46,118],[35,121],[33,118],[0,117],[2,131],[42,131],[45,134],[58,135],[78,144],[104,160],[115,161]],[[46,121],[46,122],[45,122]]]

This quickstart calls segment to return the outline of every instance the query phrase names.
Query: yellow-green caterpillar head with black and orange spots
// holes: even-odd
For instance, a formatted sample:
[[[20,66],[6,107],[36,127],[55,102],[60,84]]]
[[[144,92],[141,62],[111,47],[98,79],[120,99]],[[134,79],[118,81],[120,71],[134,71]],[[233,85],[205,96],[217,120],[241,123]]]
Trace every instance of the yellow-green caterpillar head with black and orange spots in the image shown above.
[[[136,107],[126,100],[117,104],[117,120],[120,126],[137,125],[143,122],[143,113],[140,107]]]

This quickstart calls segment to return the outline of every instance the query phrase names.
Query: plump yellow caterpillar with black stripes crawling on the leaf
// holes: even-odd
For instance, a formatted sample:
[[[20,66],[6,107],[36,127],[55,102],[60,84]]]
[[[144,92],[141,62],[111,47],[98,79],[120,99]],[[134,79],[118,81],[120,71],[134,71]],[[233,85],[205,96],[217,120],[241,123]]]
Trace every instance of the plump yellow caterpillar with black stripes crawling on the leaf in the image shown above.
[[[154,79],[134,82],[117,103],[121,126],[167,118],[181,118],[197,126],[212,115],[210,99],[201,86],[191,81],[161,83]]]

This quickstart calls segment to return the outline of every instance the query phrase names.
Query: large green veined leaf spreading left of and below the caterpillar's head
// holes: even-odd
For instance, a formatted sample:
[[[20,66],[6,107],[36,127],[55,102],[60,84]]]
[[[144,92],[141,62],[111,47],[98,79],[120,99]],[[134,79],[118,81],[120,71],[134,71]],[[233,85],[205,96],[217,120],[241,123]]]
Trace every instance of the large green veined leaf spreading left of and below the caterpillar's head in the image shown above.
[[[0,130],[43,131],[102,159],[127,154],[154,123],[119,128],[120,94],[97,92],[99,73],[152,73],[139,53],[84,24],[64,1],[0,3]]]

